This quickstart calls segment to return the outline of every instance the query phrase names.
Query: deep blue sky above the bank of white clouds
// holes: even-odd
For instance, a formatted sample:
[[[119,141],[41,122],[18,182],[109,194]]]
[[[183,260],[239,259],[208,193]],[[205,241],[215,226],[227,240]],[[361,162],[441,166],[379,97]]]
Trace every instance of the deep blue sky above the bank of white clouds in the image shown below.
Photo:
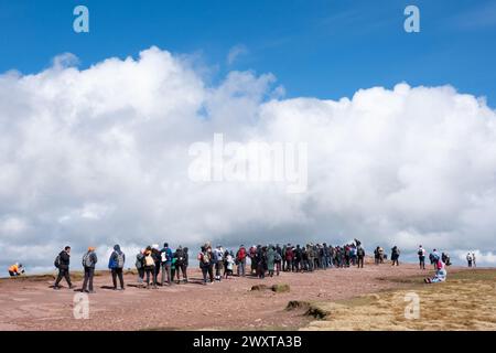
[[[77,4],[89,8],[90,33],[72,29]],[[408,4],[420,8],[420,33],[403,31]],[[158,45],[196,54],[214,81],[273,73],[288,97],[335,99],[406,81],[451,84],[495,107],[495,34],[496,1],[0,0],[0,72],[39,72],[64,52],[87,67]]]

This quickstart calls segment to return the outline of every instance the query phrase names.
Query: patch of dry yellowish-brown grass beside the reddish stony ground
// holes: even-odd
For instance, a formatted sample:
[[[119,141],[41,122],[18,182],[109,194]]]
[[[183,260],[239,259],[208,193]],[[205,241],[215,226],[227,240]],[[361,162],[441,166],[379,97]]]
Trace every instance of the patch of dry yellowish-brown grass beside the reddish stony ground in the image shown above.
[[[419,319],[406,319],[409,292],[420,298]],[[496,330],[496,270],[454,274],[449,281],[384,291],[341,302],[311,302],[323,313],[304,330]]]

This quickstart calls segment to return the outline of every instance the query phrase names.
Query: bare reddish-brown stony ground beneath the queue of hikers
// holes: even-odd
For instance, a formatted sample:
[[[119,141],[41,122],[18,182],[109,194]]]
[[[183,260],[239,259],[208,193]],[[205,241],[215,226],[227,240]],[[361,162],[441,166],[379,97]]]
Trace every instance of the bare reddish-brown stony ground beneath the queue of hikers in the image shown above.
[[[462,271],[451,268],[450,274]],[[186,285],[137,288],[126,275],[125,291],[114,291],[110,275],[95,277],[96,293],[89,295],[89,319],[74,318],[77,291],[50,286],[52,276],[0,280],[0,330],[295,330],[317,329],[306,309],[287,310],[290,301],[334,302],[411,286],[401,279],[431,275],[414,265],[366,265],[310,274],[283,272],[279,277],[223,280],[203,286],[197,269],[190,269]],[[79,275],[80,276],[80,275]],[[76,277],[79,277],[76,276]],[[75,279],[82,286],[80,278]],[[287,284],[288,292],[252,291],[256,285]],[[494,301],[493,301],[494,302]],[[401,308],[405,308],[405,303]],[[355,327],[349,325],[355,329]]]

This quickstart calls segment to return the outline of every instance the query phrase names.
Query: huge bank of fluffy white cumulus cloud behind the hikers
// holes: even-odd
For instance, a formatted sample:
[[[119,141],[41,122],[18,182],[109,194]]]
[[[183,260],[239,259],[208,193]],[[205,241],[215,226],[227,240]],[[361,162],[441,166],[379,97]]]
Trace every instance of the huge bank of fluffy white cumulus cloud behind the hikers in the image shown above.
[[[62,58],[0,76],[2,266],[48,267],[66,244],[104,256],[115,243],[354,237],[369,249],[481,249],[495,263],[496,113],[483,99],[407,84],[284,99],[270,74],[212,86],[157,47],[87,69]],[[306,143],[306,191],[191,180],[190,147],[214,133]]]

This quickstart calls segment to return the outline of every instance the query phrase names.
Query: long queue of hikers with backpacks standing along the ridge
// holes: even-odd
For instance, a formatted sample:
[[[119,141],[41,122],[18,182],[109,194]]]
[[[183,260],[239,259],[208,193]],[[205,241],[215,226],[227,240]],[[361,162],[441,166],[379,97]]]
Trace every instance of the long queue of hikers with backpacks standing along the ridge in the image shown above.
[[[317,269],[346,268],[356,266],[364,267],[365,249],[362,242],[355,239],[343,246],[332,246],[326,243],[306,245],[254,245],[245,247],[240,245],[236,249],[225,249],[223,246],[213,247],[211,243],[204,244],[196,256],[202,270],[203,284],[228,279],[236,272],[244,277],[247,274],[263,279],[266,276],[279,276],[281,272],[312,272]],[[391,266],[399,266],[400,249],[398,246],[391,248]],[[419,267],[425,269],[427,250],[419,246]],[[377,246],[374,250],[375,265],[384,264],[388,256],[382,247]],[[475,254],[467,254],[468,267],[475,267]],[[433,249],[429,254],[431,265],[435,270],[433,278],[425,279],[427,282],[444,281],[446,278],[446,266],[451,265],[446,253],[439,254]],[[95,267],[98,261],[95,247],[89,247],[84,254],[82,265],[84,268],[84,281],[82,291],[94,293],[93,280]],[[54,266],[58,269],[54,289],[60,289],[63,279],[69,288],[74,288],[69,275],[71,247],[66,246],[55,258]],[[158,286],[171,286],[173,284],[187,284],[187,267],[190,263],[188,248],[181,245],[173,250],[168,243],[161,248],[158,244],[147,246],[136,255],[134,266],[138,271],[138,287],[158,288]],[[110,254],[108,268],[111,274],[112,289],[125,290],[123,269],[126,255],[117,244]],[[247,266],[250,266],[248,269]],[[22,264],[9,267],[10,276],[24,274]]]

